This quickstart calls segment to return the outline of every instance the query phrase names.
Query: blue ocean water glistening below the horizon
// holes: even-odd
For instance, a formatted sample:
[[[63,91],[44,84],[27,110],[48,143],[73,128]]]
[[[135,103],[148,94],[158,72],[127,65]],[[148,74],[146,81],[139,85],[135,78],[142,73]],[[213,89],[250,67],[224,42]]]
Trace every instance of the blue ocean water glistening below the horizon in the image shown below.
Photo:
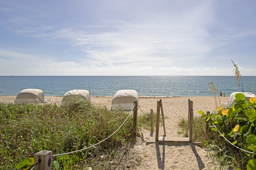
[[[243,90],[254,93],[255,76],[242,76]],[[140,97],[213,96],[208,83],[226,97],[241,92],[235,76],[0,76],[0,96],[16,96],[23,89],[41,89],[45,96],[63,96],[72,89],[84,89],[91,96],[113,96],[133,89]]]

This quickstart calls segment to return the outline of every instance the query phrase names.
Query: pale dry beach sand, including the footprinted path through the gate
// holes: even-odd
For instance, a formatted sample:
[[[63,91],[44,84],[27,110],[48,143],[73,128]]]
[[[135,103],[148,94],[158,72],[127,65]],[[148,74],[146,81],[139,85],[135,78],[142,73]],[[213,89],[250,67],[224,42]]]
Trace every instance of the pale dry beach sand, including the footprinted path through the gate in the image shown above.
[[[0,96],[0,102],[13,103],[16,96]],[[51,102],[61,103],[62,96],[45,96]],[[163,112],[165,115],[165,128],[167,137],[182,137],[177,131],[179,118],[187,118],[188,99],[193,101],[194,114],[198,110],[213,111],[215,107],[214,97],[179,97],[179,98],[139,98],[141,110],[148,113],[153,109],[156,113],[157,101],[162,99]],[[218,98],[220,102],[228,102],[228,97]],[[111,97],[91,97],[95,104],[110,105]],[[140,110],[138,114],[143,114]],[[155,135],[146,130],[142,130],[146,141],[154,141]],[[163,127],[160,126],[159,135],[163,135]],[[207,157],[206,148],[200,148],[193,144],[149,144],[138,140],[135,146],[132,146],[128,155],[128,161],[131,163],[130,169],[141,170],[206,170],[213,168],[209,163],[211,159]],[[136,164],[137,166],[132,166]]]

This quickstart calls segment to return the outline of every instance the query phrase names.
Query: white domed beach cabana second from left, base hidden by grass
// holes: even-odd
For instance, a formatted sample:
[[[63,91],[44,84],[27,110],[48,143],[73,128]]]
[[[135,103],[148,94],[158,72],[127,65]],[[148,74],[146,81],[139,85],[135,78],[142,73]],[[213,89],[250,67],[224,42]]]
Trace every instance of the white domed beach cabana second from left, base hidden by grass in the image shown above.
[[[65,93],[61,105],[65,104],[69,100],[74,99],[83,99],[86,101],[90,101],[90,92],[87,90],[70,90]]]

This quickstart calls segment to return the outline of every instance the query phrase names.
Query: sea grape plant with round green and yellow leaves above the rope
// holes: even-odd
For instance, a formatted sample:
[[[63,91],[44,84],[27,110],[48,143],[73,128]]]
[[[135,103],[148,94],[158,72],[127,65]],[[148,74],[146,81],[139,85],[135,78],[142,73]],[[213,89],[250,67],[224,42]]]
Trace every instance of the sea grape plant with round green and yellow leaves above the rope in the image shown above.
[[[245,95],[238,93],[236,103],[228,107],[217,107],[214,113],[206,115],[198,111],[206,122],[211,122],[212,131],[219,130],[222,135],[237,147],[256,153],[256,98],[245,100]],[[217,132],[218,133],[218,132]],[[247,169],[256,170],[256,159],[253,153],[240,152],[247,160]]]

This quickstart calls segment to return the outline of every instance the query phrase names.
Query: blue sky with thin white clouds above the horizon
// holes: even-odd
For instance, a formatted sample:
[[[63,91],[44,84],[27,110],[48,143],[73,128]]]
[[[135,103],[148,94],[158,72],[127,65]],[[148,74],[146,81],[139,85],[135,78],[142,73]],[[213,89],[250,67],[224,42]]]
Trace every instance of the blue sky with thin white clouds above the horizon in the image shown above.
[[[0,75],[256,75],[256,1],[1,0]]]

